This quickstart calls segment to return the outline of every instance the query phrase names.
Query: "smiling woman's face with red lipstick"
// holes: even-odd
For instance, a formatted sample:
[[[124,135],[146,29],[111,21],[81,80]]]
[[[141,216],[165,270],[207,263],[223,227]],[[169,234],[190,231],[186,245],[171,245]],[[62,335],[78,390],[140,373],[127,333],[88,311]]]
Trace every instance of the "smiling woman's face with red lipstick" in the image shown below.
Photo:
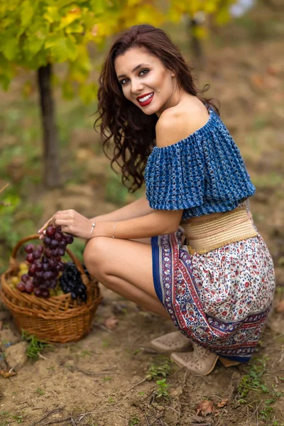
[[[145,48],[131,48],[114,62],[116,76],[126,99],[145,114],[157,114],[173,107],[177,82],[159,58]]]

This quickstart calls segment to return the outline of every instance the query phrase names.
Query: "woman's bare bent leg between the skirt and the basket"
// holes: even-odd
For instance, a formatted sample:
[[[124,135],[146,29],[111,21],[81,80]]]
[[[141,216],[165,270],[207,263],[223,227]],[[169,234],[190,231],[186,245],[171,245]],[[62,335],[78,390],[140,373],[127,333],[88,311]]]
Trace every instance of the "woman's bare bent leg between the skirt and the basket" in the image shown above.
[[[114,293],[170,320],[155,293],[149,244],[97,237],[87,242],[84,263],[89,273]]]

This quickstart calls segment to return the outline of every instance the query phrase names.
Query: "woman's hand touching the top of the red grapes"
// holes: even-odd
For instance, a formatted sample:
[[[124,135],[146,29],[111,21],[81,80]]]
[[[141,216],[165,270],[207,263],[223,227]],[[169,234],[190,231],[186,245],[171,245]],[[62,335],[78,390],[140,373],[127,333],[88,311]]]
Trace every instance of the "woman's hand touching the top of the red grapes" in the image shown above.
[[[75,210],[59,210],[53,217],[50,217],[47,222],[38,230],[40,239],[45,237],[45,228],[48,226],[61,226],[62,232],[67,232],[73,236],[78,236],[84,239],[90,239],[92,229],[92,219],[82,216]]]

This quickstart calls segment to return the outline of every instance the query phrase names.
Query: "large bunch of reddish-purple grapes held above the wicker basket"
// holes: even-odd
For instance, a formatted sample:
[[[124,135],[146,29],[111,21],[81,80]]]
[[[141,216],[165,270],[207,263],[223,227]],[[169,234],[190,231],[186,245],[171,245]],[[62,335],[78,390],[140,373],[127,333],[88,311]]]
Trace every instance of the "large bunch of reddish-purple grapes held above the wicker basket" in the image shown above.
[[[58,274],[65,268],[61,257],[65,255],[67,244],[72,244],[73,237],[63,234],[60,227],[48,226],[45,231],[43,244],[25,247],[26,261],[30,263],[28,273],[21,276],[16,288],[28,294],[34,293],[38,297],[49,297],[50,289],[58,284]]]

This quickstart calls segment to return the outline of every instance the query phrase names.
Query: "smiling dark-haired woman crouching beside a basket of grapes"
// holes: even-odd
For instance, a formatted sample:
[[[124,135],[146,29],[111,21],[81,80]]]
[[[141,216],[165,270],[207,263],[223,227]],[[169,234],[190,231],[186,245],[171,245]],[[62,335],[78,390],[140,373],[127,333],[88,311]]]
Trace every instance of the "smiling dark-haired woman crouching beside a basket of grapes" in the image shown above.
[[[89,240],[84,262],[100,283],[173,321],[179,331],[154,339],[155,349],[201,375],[217,359],[249,361],[271,309],[273,262],[249,212],[255,188],[219,111],[200,97],[168,35],[149,25],[119,36],[99,85],[111,165],[132,191],[145,178],[146,197],[92,219],[57,212],[51,222]]]

